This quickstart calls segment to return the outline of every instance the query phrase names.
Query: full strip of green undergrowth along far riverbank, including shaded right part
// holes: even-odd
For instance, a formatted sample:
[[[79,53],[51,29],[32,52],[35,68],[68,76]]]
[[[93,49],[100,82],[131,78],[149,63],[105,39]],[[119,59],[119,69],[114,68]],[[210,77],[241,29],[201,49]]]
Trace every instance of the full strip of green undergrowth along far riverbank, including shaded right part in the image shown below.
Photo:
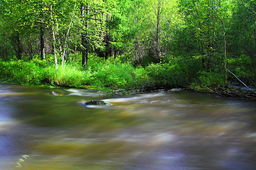
[[[80,58],[77,56],[77,58]],[[234,62],[234,61],[232,61]],[[81,67],[80,61],[67,62],[58,69],[49,60],[0,61],[0,80],[22,85],[47,85],[54,87],[82,87],[112,92],[116,89],[137,89],[141,87],[190,87],[195,91],[207,91],[225,86],[225,72],[202,71],[200,60],[172,59],[170,62],[134,67],[120,59],[104,60],[90,56],[88,67]],[[246,74],[244,68],[239,70]],[[247,74],[246,74],[247,75]],[[247,75],[248,76],[248,75]],[[252,75],[253,76],[253,75]],[[234,78],[229,78],[231,81]],[[248,77],[248,80],[255,81]],[[250,82],[252,84],[252,82]]]

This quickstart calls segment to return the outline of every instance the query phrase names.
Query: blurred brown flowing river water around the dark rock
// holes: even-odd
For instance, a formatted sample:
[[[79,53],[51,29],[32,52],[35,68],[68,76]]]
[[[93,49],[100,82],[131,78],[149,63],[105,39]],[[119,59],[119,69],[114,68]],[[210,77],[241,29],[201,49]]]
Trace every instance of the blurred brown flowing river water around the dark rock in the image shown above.
[[[256,169],[256,102],[0,84],[0,169]]]

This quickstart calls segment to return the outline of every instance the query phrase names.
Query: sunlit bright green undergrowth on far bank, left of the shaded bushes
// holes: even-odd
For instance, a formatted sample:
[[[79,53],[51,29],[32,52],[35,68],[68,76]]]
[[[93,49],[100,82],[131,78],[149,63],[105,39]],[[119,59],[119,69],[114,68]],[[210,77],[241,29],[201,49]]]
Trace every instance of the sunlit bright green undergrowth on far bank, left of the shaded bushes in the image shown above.
[[[0,80],[8,83],[85,87],[93,89],[129,89],[145,83],[145,69],[111,60],[90,59],[84,69],[77,63],[55,68],[46,60],[1,61]]]

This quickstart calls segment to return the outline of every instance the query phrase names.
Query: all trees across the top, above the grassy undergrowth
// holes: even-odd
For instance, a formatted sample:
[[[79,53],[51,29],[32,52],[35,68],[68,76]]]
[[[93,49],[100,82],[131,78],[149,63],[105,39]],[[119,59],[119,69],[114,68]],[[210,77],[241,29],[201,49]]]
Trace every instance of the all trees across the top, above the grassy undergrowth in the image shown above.
[[[229,68],[246,81],[255,75],[255,0],[1,0],[0,15],[2,59],[41,55],[56,68],[74,60],[87,67],[92,54],[143,67],[179,60],[191,73]]]

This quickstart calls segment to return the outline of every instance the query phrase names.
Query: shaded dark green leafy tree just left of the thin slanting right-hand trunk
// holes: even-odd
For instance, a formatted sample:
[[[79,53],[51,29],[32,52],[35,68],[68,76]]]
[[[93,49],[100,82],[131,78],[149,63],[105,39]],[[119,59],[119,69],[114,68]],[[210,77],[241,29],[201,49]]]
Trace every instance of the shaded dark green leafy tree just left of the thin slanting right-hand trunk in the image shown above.
[[[225,11],[221,10],[220,15],[220,6],[216,0],[180,0],[179,8],[184,17],[184,26],[178,33],[176,45],[179,41],[185,41],[182,44],[187,48],[184,51],[188,52],[189,59],[198,56],[202,59],[205,71],[216,71],[222,64],[219,56],[222,52],[223,22],[220,16],[227,16]],[[182,52],[183,47],[179,47],[176,49]]]

